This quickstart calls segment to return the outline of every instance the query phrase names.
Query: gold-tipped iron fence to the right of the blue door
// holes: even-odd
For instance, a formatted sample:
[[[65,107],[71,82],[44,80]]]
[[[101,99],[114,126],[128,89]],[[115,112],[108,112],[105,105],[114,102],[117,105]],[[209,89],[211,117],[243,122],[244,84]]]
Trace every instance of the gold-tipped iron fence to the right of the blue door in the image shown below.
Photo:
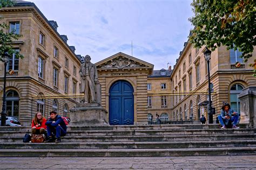
[[[211,94],[212,107],[216,108],[216,94]],[[149,92],[147,94],[147,117],[149,124],[161,122],[199,120],[201,115],[207,119],[207,91],[190,92]],[[213,115],[216,118],[216,115]]]

